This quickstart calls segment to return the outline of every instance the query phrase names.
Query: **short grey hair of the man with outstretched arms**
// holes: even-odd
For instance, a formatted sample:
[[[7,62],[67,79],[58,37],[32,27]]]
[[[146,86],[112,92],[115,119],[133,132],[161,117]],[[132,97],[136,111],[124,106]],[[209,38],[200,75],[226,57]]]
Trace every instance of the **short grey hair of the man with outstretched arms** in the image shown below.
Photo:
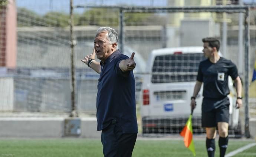
[[[111,44],[116,43],[116,49],[118,48],[118,33],[111,27],[99,27],[97,34],[102,32],[108,32],[108,40]]]

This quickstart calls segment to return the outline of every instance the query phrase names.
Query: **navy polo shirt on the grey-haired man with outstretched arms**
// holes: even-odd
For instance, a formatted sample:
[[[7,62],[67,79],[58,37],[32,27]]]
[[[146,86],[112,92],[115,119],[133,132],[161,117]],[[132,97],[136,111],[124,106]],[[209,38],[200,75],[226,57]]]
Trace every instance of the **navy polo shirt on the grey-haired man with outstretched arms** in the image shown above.
[[[97,130],[103,130],[113,119],[123,133],[138,133],[135,103],[135,79],[132,71],[122,72],[119,62],[127,59],[119,50],[101,62],[96,103]]]

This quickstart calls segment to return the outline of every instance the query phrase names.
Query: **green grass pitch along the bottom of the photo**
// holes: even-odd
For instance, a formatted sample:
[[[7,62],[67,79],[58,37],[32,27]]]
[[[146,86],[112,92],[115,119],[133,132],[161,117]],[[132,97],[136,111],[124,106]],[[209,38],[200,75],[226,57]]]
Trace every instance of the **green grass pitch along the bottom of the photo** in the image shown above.
[[[218,140],[216,154],[219,156]],[[253,143],[253,140],[230,139],[227,153]],[[194,139],[196,157],[206,157],[205,141]],[[0,139],[0,156],[14,157],[103,157],[100,139]],[[136,141],[132,157],[192,157],[182,139]],[[255,157],[256,146],[234,157]]]

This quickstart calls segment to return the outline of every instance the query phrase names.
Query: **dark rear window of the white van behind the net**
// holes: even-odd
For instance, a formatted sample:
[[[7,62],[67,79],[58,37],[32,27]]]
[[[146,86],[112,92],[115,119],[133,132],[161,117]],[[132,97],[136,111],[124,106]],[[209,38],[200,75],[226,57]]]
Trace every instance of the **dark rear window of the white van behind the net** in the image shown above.
[[[196,81],[202,52],[156,56],[152,68],[152,83]]]

